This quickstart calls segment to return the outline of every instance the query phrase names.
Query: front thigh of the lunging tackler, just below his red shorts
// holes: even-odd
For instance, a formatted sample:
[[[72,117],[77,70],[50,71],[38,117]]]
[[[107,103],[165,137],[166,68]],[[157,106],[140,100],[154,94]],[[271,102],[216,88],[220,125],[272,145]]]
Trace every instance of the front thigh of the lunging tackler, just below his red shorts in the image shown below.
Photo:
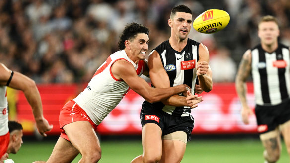
[[[76,121],[63,127],[72,145],[83,155],[101,151],[99,139],[88,121]]]

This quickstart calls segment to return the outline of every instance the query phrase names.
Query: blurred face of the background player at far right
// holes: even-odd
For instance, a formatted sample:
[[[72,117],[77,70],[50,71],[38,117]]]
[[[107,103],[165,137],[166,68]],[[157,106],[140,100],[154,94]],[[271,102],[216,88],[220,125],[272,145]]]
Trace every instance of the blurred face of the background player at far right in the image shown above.
[[[260,23],[258,28],[258,36],[261,39],[261,43],[265,45],[271,45],[278,42],[278,25],[273,21]]]

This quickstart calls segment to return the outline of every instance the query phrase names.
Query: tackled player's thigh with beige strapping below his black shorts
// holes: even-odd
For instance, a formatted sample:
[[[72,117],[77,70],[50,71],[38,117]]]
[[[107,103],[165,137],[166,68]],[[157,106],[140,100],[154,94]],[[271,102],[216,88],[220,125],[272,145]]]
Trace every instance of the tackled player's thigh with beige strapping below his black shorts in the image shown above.
[[[171,139],[162,140],[162,157],[159,163],[180,163],[185,149],[187,134],[183,131],[172,133]]]

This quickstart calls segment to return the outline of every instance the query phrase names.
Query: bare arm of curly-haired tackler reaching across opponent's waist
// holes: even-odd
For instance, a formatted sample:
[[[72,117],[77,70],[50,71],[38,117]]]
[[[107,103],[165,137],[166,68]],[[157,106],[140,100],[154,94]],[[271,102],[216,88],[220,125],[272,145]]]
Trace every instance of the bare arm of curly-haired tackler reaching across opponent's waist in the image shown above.
[[[136,74],[132,64],[126,60],[116,61],[112,65],[111,71],[115,78],[124,80],[129,87],[150,103],[167,99],[175,94],[186,93],[189,89],[185,84],[172,88],[151,88],[144,79]]]

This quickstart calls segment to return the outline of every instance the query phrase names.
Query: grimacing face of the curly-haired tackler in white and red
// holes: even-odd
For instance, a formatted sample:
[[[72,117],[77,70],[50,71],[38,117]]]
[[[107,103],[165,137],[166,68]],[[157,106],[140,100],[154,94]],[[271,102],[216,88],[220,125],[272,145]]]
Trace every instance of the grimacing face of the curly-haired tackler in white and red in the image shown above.
[[[131,52],[138,60],[144,60],[146,58],[146,52],[148,50],[149,37],[145,33],[137,34],[136,38],[130,41]]]

